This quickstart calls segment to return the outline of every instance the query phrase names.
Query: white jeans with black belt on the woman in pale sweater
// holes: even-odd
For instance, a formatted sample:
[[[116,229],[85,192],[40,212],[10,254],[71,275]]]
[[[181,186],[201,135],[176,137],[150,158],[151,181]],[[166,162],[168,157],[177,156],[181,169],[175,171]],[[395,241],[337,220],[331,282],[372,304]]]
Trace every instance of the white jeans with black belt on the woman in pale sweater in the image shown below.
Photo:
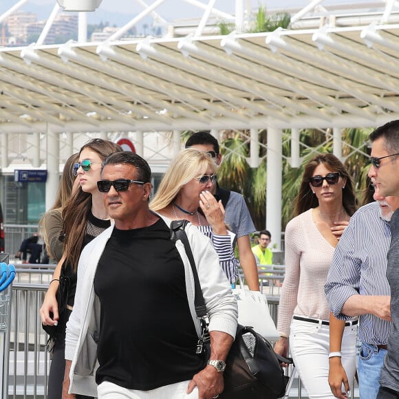
[[[345,327],[342,340],[342,364],[352,389],[356,371],[357,325]],[[332,398],[328,385],[330,326],[292,319],[290,349],[294,365],[309,398]]]

